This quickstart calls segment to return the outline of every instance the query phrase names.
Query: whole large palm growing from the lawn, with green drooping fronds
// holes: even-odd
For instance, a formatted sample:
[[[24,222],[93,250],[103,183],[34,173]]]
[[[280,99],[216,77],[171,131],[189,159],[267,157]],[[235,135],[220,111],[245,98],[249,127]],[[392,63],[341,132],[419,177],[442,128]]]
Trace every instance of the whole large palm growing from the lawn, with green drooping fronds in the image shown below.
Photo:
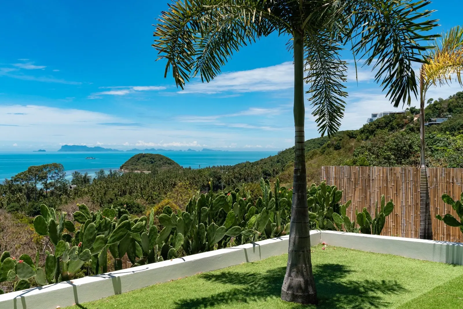
[[[344,113],[347,63],[343,46],[376,69],[375,81],[398,106],[418,94],[413,62],[432,39],[428,0],[176,0],[157,19],[159,59],[177,87],[200,74],[209,82],[234,52],[271,33],[288,37],[294,55],[294,183],[288,266],[282,299],[317,303],[310,257],[304,138],[304,82],[324,135]],[[346,45],[347,44],[347,45]],[[357,66],[356,66],[357,67]]]

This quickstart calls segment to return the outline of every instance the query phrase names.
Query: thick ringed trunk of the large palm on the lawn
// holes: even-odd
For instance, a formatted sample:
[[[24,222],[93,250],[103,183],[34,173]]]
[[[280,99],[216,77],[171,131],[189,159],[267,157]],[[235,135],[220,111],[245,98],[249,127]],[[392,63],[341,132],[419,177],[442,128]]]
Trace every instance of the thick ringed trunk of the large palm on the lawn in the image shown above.
[[[301,31],[302,32],[302,31]],[[294,179],[288,264],[282,285],[282,299],[296,303],[317,303],[317,290],[310,258],[310,227],[307,209],[306,153],[304,141],[304,43],[294,31]]]

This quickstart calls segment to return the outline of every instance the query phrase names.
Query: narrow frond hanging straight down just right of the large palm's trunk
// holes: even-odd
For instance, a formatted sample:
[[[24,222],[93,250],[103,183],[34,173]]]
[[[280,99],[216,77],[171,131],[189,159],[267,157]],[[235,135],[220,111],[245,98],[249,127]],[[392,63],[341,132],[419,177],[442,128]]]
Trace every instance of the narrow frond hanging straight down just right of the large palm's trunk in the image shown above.
[[[307,31],[306,34],[306,82],[311,84],[307,93],[314,107],[312,115],[322,136],[334,134],[344,116],[344,91],[347,63],[342,61],[342,49],[330,33]]]

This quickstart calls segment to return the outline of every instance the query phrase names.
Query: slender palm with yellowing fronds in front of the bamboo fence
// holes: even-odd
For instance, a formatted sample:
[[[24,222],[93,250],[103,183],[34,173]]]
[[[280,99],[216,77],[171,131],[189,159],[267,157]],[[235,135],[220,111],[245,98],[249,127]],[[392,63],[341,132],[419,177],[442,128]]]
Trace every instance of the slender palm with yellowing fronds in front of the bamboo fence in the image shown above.
[[[460,74],[463,72],[463,28],[453,27],[444,33],[435,49],[429,49],[426,62],[419,70],[421,138],[421,160],[419,178],[419,238],[432,240],[431,207],[429,201],[428,176],[425,160],[425,97],[432,86],[448,84],[452,77],[463,86]]]

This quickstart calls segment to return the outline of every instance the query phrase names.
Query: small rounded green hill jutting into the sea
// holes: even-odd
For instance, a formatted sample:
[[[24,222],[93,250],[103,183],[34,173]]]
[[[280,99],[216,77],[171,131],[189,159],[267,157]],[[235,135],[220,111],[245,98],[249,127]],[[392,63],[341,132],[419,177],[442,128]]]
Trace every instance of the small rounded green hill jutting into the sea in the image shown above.
[[[121,165],[124,171],[153,171],[179,168],[180,165],[162,154],[135,154]]]

